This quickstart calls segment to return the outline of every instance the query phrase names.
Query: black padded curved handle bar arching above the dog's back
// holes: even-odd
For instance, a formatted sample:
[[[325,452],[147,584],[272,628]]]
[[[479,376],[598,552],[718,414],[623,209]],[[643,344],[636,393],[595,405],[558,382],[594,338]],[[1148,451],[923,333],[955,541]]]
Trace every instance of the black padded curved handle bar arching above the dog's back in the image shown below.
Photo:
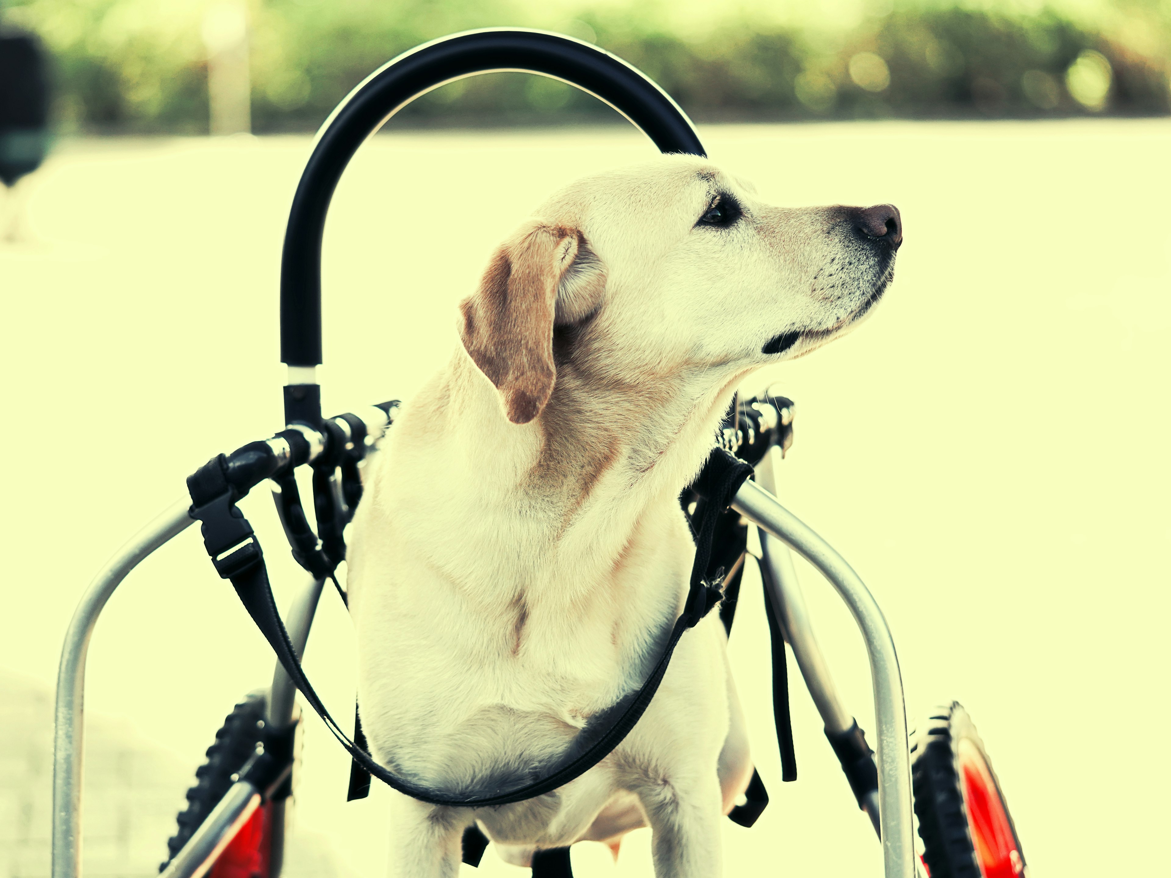
[[[515,70],[562,80],[610,104],[663,152],[706,155],[671,97],[610,53],[542,30],[471,30],[425,43],[372,73],[322,125],[301,174],[281,255],[281,361],[321,363],[321,239],[337,180],[358,146],[398,110],[446,82]]]

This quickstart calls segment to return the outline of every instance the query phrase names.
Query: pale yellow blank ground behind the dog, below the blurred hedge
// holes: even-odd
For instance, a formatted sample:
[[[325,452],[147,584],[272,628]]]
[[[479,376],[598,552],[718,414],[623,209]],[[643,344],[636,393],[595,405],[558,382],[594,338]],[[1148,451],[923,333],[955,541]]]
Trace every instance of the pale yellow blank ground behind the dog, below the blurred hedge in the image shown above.
[[[775,378],[797,402],[782,501],[882,604],[912,725],[940,700],[968,707],[1034,877],[1165,873],[1171,122],[701,136],[767,200],[903,212],[897,280],[874,318],[751,384]],[[0,248],[0,667],[52,685],[102,562],[199,464],[281,426],[280,242],[308,150],[306,137],[82,140],[29,180],[33,240]],[[621,128],[368,143],[326,235],[326,411],[413,392],[454,343],[453,303],[492,247],[561,183],[650,155]],[[303,574],[267,492],[244,506],[288,595]],[[857,632],[803,571],[843,693],[872,729]],[[879,874],[795,672],[801,776],[780,783],[754,582],[732,653],[773,803],[752,830],[725,826],[726,871]],[[331,595],[319,619],[307,666],[344,716],[350,630]],[[193,528],[110,602],[88,704],[193,773],[271,666]],[[310,718],[299,821],[328,837],[343,871],[381,876],[385,793],[347,804],[347,770]],[[617,873],[650,874],[646,850],[645,832],[632,836]],[[583,878],[612,871],[598,845],[574,856]],[[523,874],[491,852],[482,871]]]

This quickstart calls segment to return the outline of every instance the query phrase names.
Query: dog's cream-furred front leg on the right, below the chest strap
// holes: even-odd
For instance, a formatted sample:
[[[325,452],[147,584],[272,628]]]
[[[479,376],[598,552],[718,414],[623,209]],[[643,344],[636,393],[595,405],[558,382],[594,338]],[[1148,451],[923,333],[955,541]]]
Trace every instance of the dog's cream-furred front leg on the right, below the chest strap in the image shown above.
[[[723,800],[715,771],[662,777],[637,795],[651,826],[657,878],[717,878]]]

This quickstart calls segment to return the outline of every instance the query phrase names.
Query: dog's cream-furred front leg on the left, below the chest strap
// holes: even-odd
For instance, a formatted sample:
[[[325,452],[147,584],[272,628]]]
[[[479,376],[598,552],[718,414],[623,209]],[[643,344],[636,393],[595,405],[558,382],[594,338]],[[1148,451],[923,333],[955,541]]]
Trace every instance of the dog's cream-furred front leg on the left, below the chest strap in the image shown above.
[[[395,794],[390,819],[390,878],[456,878],[464,829],[463,808],[438,808]]]

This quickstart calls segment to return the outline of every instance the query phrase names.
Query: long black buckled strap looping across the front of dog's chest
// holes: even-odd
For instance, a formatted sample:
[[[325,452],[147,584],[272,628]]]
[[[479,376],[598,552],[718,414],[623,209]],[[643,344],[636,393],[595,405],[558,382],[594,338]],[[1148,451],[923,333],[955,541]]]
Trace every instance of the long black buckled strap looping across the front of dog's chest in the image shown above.
[[[658,691],[679,638],[721,598],[719,584],[708,583],[705,576],[707,561],[711,556],[711,541],[715,531],[715,519],[728,507],[735,492],[752,474],[751,466],[727,452],[720,448],[712,452],[707,466],[704,468],[701,478],[704,483],[699,487],[708,500],[710,514],[705,515],[704,521],[700,522],[696,561],[691,570],[691,588],[683,613],[676,620],[658,663],[617,720],[584,753],[542,780],[506,793],[459,795],[424,787],[395,775],[376,762],[364,748],[351,741],[326,709],[324,704],[301,670],[300,661],[289,642],[288,631],[285,629],[285,623],[281,620],[276,602],[273,598],[260,542],[244,515],[235,508],[235,502],[241,495],[227,482],[222,461],[222,455],[214,458],[187,479],[187,488],[192,500],[191,516],[203,523],[204,546],[217,571],[222,578],[231,581],[240,602],[265,639],[268,640],[289,679],[293,680],[309,706],[317,712],[326,727],[349,752],[354,761],[372,777],[377,777],[391,789],[412,798],[436,805],[460,808],[511,804],[550,793],[596,766],[630,734]],[[218,488],[222,488],[222,491]]]

